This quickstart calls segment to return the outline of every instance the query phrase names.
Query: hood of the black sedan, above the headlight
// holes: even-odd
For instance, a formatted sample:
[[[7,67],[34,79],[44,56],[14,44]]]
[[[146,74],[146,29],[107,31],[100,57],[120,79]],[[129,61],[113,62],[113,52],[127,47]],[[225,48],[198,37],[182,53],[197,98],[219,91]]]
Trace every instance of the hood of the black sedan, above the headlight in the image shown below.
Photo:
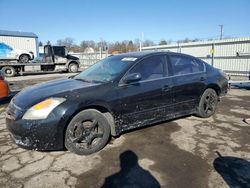
[[[28,87],[19,92],[12,102],[23,110],[50,97],[69,97],[74,90],[100,85],[75,79],[60,79]]]

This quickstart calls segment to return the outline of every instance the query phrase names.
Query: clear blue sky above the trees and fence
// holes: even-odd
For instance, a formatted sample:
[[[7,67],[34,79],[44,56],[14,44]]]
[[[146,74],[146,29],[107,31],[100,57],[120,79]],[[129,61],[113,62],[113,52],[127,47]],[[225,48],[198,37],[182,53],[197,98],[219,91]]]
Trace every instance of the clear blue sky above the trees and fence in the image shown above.
[[[250,0],[0,0],[0,29],[33,32],[39,41],[71,37],[109,41],[140,38],[250,36]]]

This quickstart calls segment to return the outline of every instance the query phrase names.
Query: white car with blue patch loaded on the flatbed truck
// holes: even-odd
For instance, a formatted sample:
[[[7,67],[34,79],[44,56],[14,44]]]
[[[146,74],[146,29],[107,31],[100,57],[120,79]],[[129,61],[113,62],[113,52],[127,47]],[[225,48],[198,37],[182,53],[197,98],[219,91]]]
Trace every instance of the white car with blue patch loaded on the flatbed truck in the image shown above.
[[[28,63],[32,59],[34,59],[33,52],[14,49],[5,43],[0,43],[0,60],[18,60],[20,63]]]

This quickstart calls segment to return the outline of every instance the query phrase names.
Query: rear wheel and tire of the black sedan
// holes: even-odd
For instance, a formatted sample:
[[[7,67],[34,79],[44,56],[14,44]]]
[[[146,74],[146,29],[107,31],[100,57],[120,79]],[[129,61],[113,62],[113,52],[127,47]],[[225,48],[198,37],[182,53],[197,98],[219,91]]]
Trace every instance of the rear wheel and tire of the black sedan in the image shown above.
[[[208,118],[212,116],[218,104],[218,95],[215,90],[208,88],[201,96],[197,115],[202,118]]]

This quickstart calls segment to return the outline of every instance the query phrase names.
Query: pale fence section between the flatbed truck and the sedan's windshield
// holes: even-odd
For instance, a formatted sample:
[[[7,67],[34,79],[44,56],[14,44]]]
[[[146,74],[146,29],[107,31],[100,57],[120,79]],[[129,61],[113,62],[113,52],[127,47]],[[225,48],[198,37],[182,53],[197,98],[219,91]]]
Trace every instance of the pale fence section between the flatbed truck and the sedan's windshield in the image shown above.
[[[85,69],[108,56],[107,51],[93,53],[70,53],[80,59],[80,68]]]

